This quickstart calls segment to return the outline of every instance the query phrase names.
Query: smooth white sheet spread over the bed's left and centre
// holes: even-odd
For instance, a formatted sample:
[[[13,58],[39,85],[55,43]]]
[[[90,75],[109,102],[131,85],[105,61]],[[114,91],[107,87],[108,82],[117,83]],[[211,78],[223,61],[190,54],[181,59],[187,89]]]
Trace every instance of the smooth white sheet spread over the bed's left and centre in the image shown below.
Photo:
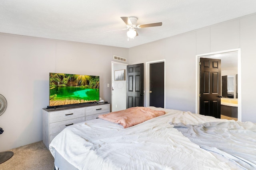
[[[161,109],[151,107],[152,109]],[[79,170],[170,170],[238,168],[192,143],[169,122],[196,124],[227,121],[164,109],[165,115],[124,129],[102,119],[64,129],[50,143]]]

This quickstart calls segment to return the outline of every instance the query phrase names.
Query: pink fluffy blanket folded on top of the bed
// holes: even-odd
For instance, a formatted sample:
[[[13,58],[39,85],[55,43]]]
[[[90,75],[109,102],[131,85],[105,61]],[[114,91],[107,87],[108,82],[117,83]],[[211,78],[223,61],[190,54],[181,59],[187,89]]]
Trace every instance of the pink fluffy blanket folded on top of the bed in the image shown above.
[[[99,115],[98,117],[113,123],[118,123],[124,128],[127,128],[164,114],[165,111],[152,110],[148,107],[131,107],[125,110]]]

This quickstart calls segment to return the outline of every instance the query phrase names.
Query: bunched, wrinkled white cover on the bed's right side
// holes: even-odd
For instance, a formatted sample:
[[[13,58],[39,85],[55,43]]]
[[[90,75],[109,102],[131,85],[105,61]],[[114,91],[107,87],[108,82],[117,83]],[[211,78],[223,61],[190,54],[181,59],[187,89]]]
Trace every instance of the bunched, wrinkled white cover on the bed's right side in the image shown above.
[[[170,123],[201,148],[225,156],[244,169],[256,169],[256,125],[252,122]]]

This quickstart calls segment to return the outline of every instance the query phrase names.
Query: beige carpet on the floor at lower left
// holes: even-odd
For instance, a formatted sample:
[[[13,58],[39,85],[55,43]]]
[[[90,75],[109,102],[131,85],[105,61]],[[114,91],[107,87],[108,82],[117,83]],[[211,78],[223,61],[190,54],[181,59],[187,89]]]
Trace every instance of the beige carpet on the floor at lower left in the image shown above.
[[[14,155],[0,164],[0,170],[54,170],[54,158],[43,141],[8,151]]]

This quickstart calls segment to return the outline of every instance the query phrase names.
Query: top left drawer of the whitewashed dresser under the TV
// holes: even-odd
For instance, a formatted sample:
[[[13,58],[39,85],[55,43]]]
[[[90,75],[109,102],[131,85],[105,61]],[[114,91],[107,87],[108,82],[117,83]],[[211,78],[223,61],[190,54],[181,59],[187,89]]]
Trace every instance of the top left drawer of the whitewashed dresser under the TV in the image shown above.
[[[50,123],[84,117],[85,108],[66,109],[50,112]]]

